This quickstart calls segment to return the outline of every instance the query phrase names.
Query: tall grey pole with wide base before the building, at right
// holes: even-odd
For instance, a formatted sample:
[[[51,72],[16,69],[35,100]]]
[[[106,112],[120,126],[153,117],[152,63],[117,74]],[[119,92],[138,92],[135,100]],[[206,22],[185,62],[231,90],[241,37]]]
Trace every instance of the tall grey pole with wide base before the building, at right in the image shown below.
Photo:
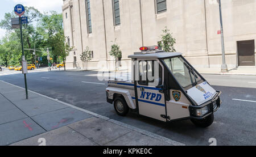
[[[217,2],[218,2],[218,6],[220,8],[220,25],[221,25],[221,48],[222,48],[221,72],[222,73],[227,73],[228,72],[228,66],[226,65],[226,60],[225,60],[225,45],[224,45],[224,35],[223,35],[221,0],[217,0]]]

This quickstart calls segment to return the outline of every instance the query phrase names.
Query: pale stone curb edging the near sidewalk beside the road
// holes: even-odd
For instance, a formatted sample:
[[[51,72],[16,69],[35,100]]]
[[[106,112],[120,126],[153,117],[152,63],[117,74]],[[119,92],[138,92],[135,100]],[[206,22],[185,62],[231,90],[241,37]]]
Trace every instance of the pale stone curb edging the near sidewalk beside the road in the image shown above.
[[[10,84],[11,86],[18,87],[18,88],[24,90],[23,87],[16,86],[16,85],[14,85],[14,84],[5,82],[5,81],[3,81],[3,80],[0,80],[0,81],[2,81],[3,83]],[[110,119],[109,117],[105,117],[105,116],[102,116],[102,115],[100,115],[100,114],[97,114],[97,113],[94,113],[94,112],[90,112],[90,111],[88,111],[88,110],[86,110],[86,109],[82,109],[82,108],[76,107],[76,106],[74,106],[74,105],[65,103],[65,102],[63,102],[63,101],[53,99],[52,97],[39,94],[38,92],[34,92],[34,91],[31,91],[31,90],[28,90],[28,91],[29,91],[29,92],[32,92],[32,93],[34,93],[34,94],[37,94],[37,95],[46,97],[47,99],[56,101],[56,102],[58,102],[58,103],[67,105],[67,106],[69,106],[69,107],[75,108],[75,109],[77,109],[77,110],[79,110],[79,111],[82,111],[82,112],[91,114],[91,115],[93,115],[94,117],[98,117],[98,118],[101,118],[101,119],[103,119],[103,120],[106,120],[106,121],[112,122],[112,123],[114,123],[114,124],[117,124],[117,125],[119,125],[119,126],[123,126],[124,128],[137,131],[137,132],[139,132],[139,133],[141,133],[141,134],[147,135],[148,137],[155,138],[155,139],[158,139],[159,141],[163,141],[163,142],[169,143],[170,145],[173,145],[173,146],[185,146],[185,144],[183,144],[183,143],[180,143],[180,142],[177,142],[177,141],[173,141],[172,139],[163,137],[163,136],[158,135],[158,134],[155,134],[155,133],[151,133],[150,131],[146,131],[146,130],[143,130],[143,129],[139,129],[139,128],[135,127],[135,126],[131,126],[131,125],[129,125],[129,124],[125,124],[125,123],[123,123],[123,122]]]

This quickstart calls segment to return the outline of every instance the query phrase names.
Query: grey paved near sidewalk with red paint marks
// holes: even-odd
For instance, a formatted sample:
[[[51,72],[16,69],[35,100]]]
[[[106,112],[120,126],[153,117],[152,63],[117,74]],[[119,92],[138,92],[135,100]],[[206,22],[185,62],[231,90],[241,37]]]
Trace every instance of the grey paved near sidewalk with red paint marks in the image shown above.
[[[0,145],[183,145],[0,80]]]

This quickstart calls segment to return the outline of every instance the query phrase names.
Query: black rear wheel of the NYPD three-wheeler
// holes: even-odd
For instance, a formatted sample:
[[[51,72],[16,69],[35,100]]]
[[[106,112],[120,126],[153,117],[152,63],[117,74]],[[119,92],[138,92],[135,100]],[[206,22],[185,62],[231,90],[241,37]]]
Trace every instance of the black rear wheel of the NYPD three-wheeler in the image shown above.
[[[120,116],[126,116],[126,114],[129,112],[129,107],[125,100],[122,99],[122,97],[116,97],[114,100],[114,109],[117,114]]]

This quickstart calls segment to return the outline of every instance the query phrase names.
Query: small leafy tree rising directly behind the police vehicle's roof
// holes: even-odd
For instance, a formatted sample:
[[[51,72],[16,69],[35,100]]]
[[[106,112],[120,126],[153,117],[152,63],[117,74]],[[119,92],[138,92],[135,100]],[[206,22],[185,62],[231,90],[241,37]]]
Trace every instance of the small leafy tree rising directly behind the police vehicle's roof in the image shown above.
[[[176,52],[174,48],[174,44],[176,43],[176,39],[172,37],[172,33],[170,33],[170,30],[165,27],[163,29],[163,35],[162,35],[162,41],[160,43],[160,46],[163,48],[165,52]]]

